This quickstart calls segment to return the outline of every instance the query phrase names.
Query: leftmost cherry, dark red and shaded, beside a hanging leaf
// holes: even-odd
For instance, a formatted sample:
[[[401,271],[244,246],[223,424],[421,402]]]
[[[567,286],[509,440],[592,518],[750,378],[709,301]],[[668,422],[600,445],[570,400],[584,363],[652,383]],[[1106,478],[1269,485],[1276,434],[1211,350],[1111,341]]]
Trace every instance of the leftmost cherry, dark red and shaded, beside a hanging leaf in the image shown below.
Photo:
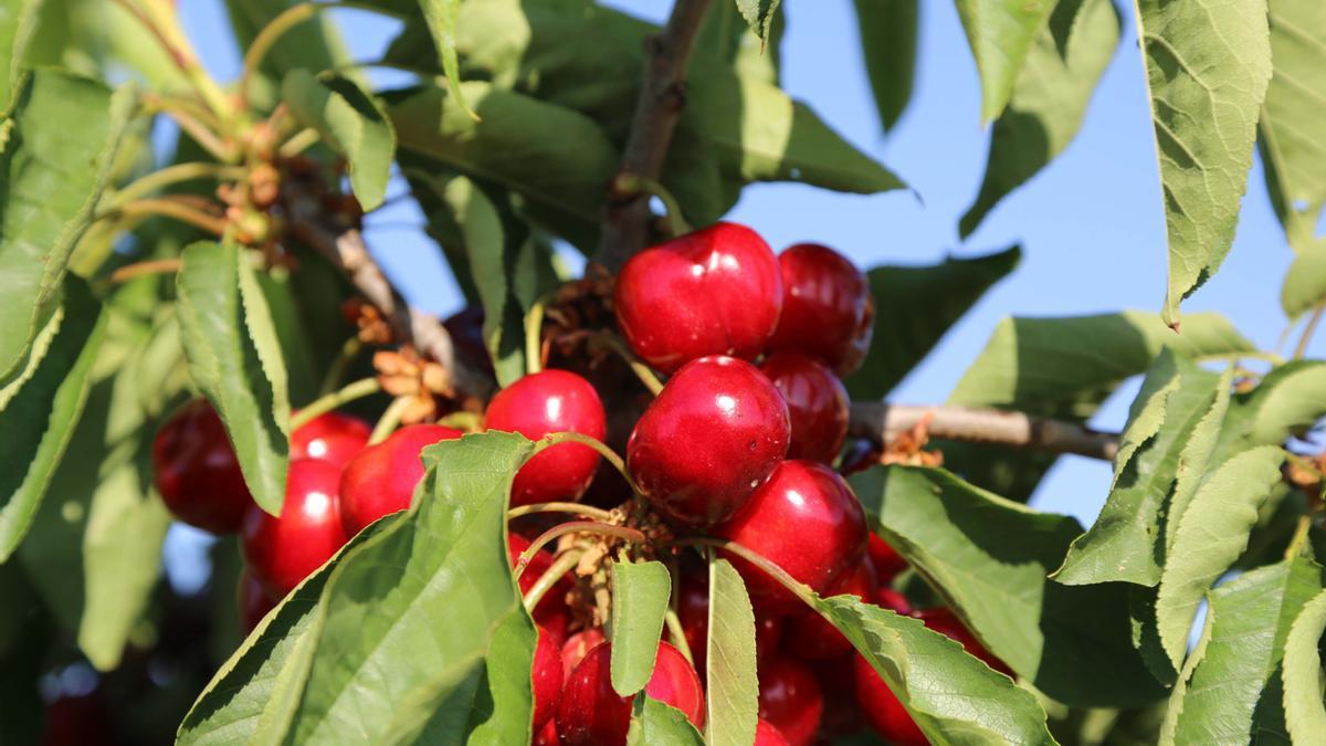
[[[179,408],[152,439],[156,490],[179,520],[233,534],[253,504],[221,418],[207,400]]]

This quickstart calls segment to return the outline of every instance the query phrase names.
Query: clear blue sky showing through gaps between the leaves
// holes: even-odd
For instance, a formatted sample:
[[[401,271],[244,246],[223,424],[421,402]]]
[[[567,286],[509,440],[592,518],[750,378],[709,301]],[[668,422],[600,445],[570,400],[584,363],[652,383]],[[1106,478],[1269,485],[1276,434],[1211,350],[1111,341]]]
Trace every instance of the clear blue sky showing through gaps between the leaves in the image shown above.
[[[605,4],[654,20],[671,7],[668,0]],[[239,56],[229,40],[216,33],[224,28],[220,0],[182,5],[204,64],[221,80],[232,80]],[[729,218],[754,227],[776,250],[815,240],[837,247],[862,267],[934,263],[1013,243],[1024,247],[1018,271],[951,331],[895,392],[895,401],[944,401],[1005,316],[1159,311],[1166,279],[1164,219],[1131,17],[1126,17],[1120,46],[1071,147],[961,242],[957,219],[980,186],[989,133],[980,126],[980,85],[953,4],[922,3],[915,96],[887,138],[870,98],[850,0],[786,0],[785,5],[784,86],[894,169],[922,199],[902,191],[857,196],[798,185],[757,185],[747,190]],[[398,28],[361,12],[341,11],[334,17],[349,29],[351,49],[363,60],[377,58]],[[448,313],[459,307],[460,296],[438,251],[419,230],[422,222],[412,204],[394,203],[370,216],[367,236],[411,301]],[[1278,297],[1290,259],[1260,165],[1254,165],[1235,248],[1220,273],[1184,309],[1220,311],[1260,346],[1276,349],[1286,327]],[[880,342],[887,340],[876,340]],[[1326,354],[1326,332],[1311,353]],[[1119,427],[1134,392],[1135,385],[1130,385],[1113,397],[1095,425]],[[1063,458],[1041,485],[1034,504],[1077,515],[1089,524],[1103,504],[1109,479],[1106,463]]]

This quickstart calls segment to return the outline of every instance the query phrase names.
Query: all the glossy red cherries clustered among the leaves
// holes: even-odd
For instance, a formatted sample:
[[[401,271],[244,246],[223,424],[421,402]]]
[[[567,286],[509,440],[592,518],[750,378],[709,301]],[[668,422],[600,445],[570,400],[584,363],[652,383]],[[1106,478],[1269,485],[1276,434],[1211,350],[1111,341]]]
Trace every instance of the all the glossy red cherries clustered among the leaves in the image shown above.
[[[891,588],[906,561],[869,531],[861,503],[830,466],[847,434],[839,376],[861,365],[874,321],[861,271],[817,244],[774,256],[754,231],[719,223],[633,258],[617,279],[613,304],[631,350],[668,376],[635,422],[626,465],[671,535],[725,540],[821,596],[849,593],[915,615],[1006,672],[951,612],[914,612]],[[556,369],[501,390],[483,426],[532,439],[569,431],[602,441],[607,430],[594,386]],[[419,451],[460,435],[412,425],[367,445],[362,421],[320,415],[292,434],[280,518],[252,503],[206,402],[186,406],[162,429],[154,457],[160,492],[176,516],[213,532],[240,531],[248,563],[241,611],[252,627],[350,536],[407,508],[423,477]],[[516,474],[511,504],[579,500],[598,466],[591,447],[558,442]],[[530,547],[529,536],[508,535],[513,565]],[[804,746],[863,725],[895,743],[926,743],[846,637],[756,564],[721,554],[745,580],[756,613],[757,746]],[[644,692],[703,727],[697,672],[705,665],[707,573],[703,563],[690,561],[693,555],[680,559],[678,616],[693,662],[660,642]],[[521,591],[528,593],[553,563],[552,552],[534,552],[520,575]],[[603,631],[569,605],[574,584],[570,573],[556,579],[533,609],[533,742],[617,746],[626,741],[631,700],[611,686]]]

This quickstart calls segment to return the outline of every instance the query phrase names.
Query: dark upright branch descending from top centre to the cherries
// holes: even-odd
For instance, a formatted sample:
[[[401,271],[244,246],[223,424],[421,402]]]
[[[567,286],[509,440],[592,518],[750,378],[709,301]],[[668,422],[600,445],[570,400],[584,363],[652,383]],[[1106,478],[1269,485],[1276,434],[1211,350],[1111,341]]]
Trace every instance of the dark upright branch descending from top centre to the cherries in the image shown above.
[[[619,182],[658,179],[663,173],[672,130],[686,106],[686,68],[695,46],[709,0],[676,0],[663,32],[650,37],[644,81],[631,119],[631,134],[622,155]],[[625,177],[625,179],[623,179]],[[598,261],[617,271],[644,247],[650,223],[648,195],[613,188],[603,215]]]

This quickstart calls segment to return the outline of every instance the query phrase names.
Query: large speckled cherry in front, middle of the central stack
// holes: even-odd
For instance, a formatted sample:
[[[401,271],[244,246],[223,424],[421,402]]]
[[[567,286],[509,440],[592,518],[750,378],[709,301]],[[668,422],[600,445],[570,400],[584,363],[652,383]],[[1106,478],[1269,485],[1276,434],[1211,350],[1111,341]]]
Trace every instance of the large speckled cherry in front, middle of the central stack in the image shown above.
[[[654,510],[712,526],[745,506],[788,453],[788,405],[769,378],[735,357],[692,360],[663,386],[626,443]]]

